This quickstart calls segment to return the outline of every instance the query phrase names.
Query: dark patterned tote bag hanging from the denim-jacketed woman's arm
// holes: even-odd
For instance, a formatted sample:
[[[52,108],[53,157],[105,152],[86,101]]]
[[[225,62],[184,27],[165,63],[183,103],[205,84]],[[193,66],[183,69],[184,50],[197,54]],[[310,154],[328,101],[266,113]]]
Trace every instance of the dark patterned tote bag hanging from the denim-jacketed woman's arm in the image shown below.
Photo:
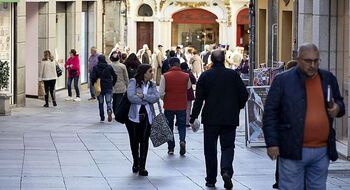
[[[169,127],[169,122],[162,112],[160,102],[157,102],[159,114],[154,117],[151,126],[150,139],[154,147],[158,147],[168,141],[174,140],[174,134]]]

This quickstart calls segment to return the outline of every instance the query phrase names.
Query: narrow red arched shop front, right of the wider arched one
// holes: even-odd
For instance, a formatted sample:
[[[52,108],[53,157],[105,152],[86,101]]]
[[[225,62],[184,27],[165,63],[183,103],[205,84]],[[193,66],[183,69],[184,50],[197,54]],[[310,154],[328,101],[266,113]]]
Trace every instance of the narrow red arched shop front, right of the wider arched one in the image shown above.
[[[237,15],[236,46],[249,50],[249,9],[242,9]]]

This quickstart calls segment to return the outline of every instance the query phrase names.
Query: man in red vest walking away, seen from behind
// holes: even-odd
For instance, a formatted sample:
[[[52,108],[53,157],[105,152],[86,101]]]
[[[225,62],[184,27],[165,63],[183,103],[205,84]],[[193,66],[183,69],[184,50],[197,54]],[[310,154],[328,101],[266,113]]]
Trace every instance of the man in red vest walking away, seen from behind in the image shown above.
[[[159,94],[164,101],[164,115],[169,127],[174,130],[174,117],[180,136],[180,155],[186,153],[186,109],[187,89],[192,87],[190,77],[181,71],[180,60],[176,57],[169,59],[170,69],[160,79]],[[168,142],[168,154],[174,154],[175,140]]]

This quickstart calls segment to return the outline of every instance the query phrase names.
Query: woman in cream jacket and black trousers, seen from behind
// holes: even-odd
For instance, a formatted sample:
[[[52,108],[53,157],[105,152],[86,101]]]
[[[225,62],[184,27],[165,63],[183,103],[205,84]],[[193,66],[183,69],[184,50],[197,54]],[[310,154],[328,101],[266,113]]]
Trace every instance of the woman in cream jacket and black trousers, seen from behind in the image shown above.
[[[57,79],[56,61],[49,50],[44,51],[44,57],[39,68],[39,81],[44,81],[45,88],[45,104],[44,107],[49,107],[49,92],[51,94],[53,106],[57,106],[55,98],[55,85]]]

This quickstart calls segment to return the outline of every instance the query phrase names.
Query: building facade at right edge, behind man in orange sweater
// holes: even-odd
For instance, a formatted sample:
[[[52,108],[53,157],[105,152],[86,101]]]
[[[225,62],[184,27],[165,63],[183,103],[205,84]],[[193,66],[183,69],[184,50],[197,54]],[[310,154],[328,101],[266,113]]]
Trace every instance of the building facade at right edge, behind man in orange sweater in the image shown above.
[[[315,43],[320,50],[320,67],[338,79],[346,115],[337,119],[338,151],[350,158],[349,131],[349,0],[299,0],[298,44]]]

